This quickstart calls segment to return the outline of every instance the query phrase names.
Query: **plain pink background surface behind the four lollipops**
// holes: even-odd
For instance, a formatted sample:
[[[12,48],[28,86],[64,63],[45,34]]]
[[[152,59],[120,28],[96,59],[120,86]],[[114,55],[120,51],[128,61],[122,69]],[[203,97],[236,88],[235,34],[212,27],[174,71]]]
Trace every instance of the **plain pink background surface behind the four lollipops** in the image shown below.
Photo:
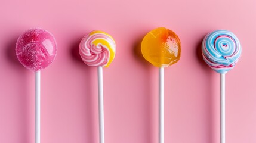
[[[165,69],[165,142],[219,141],[219,75],[202,60],[201,42],[227,29],[243,49],[226,75],[226,141],[255,143],[255,15],[255,0],[2,0],[0,142],[34,139],[35,77],[15,54],[18,36],[32,27],[49,30],[58,44],[54,63],[41,72],[41,142],[98,142],[97,68],[78,54],[91,30],[109,33],[117,45],[103,69],[106,143],[158,142],[158,68],[141,57],[140,42],[167,27],[182,50]]]

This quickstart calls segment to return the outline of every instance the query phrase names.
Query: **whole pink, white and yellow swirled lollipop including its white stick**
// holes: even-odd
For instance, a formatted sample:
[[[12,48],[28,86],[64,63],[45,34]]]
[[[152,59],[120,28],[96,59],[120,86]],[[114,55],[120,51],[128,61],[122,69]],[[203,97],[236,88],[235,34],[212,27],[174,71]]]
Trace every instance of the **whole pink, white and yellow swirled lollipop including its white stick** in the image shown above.
[[[103,69],[113,61],[116,44],[112,36],[101,31],[92,31],[85,35],[79,45],[82,60],[88,66],[98,67],[98,113],[100,124],[100,143],[104,143],[104,105],[103,105]]]

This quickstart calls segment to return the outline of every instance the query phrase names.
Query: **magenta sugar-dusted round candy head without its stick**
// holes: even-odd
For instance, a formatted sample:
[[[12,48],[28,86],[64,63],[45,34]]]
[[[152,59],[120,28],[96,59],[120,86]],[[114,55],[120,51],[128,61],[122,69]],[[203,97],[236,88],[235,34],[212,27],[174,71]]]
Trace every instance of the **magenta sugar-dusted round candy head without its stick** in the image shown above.
[[[40,71],[49,66],[57,54],[57,44],[51,33],[43,29],[30,29],[17,40],[16,55],[24,67]]]

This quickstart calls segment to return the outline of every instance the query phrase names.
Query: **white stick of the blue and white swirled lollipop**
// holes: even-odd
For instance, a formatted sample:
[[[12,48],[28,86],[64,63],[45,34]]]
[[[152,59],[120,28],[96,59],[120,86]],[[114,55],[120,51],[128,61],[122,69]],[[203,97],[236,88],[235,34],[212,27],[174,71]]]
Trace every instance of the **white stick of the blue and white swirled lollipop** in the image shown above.
[[[225,143],[225,73],[220,74],[220,143]]]

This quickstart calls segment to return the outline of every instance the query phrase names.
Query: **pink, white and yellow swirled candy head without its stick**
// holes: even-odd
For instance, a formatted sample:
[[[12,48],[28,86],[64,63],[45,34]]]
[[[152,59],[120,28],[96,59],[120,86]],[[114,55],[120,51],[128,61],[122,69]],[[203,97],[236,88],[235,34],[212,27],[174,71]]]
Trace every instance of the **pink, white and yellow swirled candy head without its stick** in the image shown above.
[[[115,58],[115,52],[114,39],[101,31],[88,33],[79,45],[81,58],[88,66],[108,67]]]

